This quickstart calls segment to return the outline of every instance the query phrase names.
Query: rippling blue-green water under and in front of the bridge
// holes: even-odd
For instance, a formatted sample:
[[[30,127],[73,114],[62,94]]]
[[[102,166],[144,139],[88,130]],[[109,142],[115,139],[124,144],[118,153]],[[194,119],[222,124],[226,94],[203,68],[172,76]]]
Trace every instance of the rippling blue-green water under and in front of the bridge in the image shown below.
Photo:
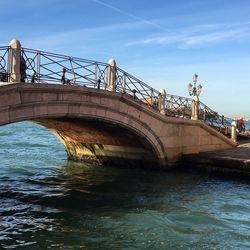
[[[2,249],[249,249],[250,184],[68,162],[32,123],[0,127]]]

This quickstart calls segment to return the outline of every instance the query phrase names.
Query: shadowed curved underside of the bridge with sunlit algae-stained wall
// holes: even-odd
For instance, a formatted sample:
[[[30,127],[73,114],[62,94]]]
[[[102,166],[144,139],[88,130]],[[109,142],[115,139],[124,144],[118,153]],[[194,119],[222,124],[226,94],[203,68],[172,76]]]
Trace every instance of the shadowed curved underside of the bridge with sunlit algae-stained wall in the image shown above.
[[[109,166],[159,168],[152,145],[133,131],[102,120],[36,119],[64,144],[71,160]]]

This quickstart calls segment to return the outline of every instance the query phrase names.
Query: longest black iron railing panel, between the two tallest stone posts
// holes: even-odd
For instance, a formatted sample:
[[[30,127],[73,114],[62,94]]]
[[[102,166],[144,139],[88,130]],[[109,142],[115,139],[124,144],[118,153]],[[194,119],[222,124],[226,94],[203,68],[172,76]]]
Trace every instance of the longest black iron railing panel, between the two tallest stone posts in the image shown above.
[[[22,49],[26,81],[105,88],[108,65],[55,53]]]

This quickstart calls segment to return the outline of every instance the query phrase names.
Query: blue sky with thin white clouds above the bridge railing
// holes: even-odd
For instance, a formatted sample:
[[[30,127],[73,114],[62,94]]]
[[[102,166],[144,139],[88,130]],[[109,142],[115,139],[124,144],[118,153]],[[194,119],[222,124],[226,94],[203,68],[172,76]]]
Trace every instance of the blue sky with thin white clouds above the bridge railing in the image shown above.
[[[117,65],[156,89],[250,118],[248,0],[0,0],[0,45]]]

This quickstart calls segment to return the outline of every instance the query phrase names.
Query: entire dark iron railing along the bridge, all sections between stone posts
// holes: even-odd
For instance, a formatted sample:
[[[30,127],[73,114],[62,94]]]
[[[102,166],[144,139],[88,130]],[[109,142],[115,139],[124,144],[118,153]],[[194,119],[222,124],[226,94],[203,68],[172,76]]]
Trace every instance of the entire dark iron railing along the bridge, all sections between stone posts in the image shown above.
[[[3,82],[8,81],[10,73],[10,50],[9,46],[0,47],[0,81]],[[28,83],[60,83],[106,89],[110,67],[107,63],[87,59],[28,48],[21,50],[21,79]],[[119,67],[115,67],[115,84],[115,91],[158,109],[160,92]],[[167,116],[191,118],[191,98],[167,94],[165,107]],[[199,102],[199,120],[220,132],[231,127],[229,118],[219,115],[202,102]]]

